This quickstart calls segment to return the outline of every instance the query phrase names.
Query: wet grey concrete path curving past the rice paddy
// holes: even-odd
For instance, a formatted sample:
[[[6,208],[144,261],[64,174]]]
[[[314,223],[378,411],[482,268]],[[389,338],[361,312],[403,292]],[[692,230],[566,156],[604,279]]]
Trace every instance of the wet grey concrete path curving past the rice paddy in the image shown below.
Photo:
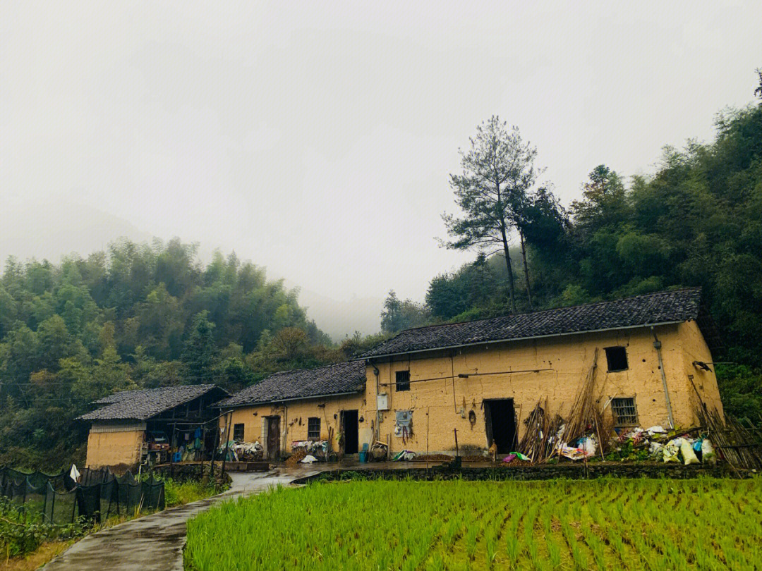
[[[182,571],[185,522],[214,503],[236,496],[261,493],[288,484],[320,469],[271,471],[267,474],[231,474],[230,490],[219,496],[165,509],[88,535],[42,569],[44,571]]]

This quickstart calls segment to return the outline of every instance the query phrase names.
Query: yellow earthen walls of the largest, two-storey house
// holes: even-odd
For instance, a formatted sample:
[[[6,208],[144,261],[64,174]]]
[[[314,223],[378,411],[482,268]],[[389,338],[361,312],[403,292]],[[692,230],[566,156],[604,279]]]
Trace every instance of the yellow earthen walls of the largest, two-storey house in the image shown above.
[[[693,424],[693,388],[687,381],[687,363],[693,356],[709,360],[709,349],[695,324],[655,327],[661,341],[664,373],[671,397],[674,423]],[[485,409],[483,400],[513,398],[519,423],[519,438],[523,435],[523,419],[542,397],[548,397],[550,413],[568,414],[575,395],[581,388],[598,349],[595,372],[595,391],[601,407],[610,416],[612,397],[634,397],[639,425],[668,427],[664,384],[653,346],[650,328],[638,328],[600,333],[584,333],[566,337],[492,343],[452,351],[429,352],[424,355],[396,356],[375,365],[379,370],[380,392],[389,395],[389,410],[376,414],[376,375],[373,366],[367,368],[367,421],[376,424],[379,439],[391,442],[393,451],[403,448],[431,454],[452,452],[455,447],[453,429],[458,431],[461,448],[487,448]],[[628,368],[607,372],[604,347],[626,346]],[[410,391],[395,392],[395,372],[410,371]],[[527,371],[509,373],[511,371]],[[537,371],[537,372],[534,372]],[[475,375],[482,373],[482,375]],[[484,373],[498,373],[484,375]],[[470,374],[469,378],[458,378]],[[690,366],[690,374],[699,375]],[[454,375],[454,378],[453,378]],[[444,378],[443,378],[444,377]],[[439,380],[415,382],[420,379]],[[694,376],[694,379],[698,376]],[[701,376],[703,391],[719,405],[716,378]],[[695,400],[695,399],[693,399]],[[719,405],[721,406],[721,405]],[[394,435],[395,411],[412,411],[412,436],[403,444]],[[474,410],[476,422],[469,422]]]

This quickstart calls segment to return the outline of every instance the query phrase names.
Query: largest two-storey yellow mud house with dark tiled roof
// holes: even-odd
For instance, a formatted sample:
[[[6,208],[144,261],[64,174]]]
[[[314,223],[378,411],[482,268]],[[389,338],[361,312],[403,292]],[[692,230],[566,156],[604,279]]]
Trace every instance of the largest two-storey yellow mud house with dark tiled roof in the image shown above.
[[[701,400],[722,413],[714,324],[700,289],[402,331],[366,352],[365,398],[391,451],[508,451],[547,397],[564,416],[594,363],[617,426],[695,426]]]

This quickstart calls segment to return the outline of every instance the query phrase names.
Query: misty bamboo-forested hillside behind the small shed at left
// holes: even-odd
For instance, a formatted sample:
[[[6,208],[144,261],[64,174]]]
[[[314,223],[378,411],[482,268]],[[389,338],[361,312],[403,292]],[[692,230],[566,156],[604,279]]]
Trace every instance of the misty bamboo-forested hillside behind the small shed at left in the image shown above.
[[[59,467],[88,403],[126,388],[214,382],[346,359],[264,269],[195,248],[121,241],[59,265],[13,258],[0,279],[0,464]]]

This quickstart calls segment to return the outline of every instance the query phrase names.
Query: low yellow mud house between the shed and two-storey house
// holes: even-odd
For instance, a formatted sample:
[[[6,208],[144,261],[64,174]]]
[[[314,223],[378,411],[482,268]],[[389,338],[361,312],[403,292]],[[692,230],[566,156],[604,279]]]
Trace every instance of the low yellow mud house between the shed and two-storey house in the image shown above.
[[[365,379],[362,361],[276,373],[220,402],[229,412],[220,423],[232,423],[233,440],[260,442],[270,459],[303,441],[328,441],[331,450],[357,454],[373,435]]]

